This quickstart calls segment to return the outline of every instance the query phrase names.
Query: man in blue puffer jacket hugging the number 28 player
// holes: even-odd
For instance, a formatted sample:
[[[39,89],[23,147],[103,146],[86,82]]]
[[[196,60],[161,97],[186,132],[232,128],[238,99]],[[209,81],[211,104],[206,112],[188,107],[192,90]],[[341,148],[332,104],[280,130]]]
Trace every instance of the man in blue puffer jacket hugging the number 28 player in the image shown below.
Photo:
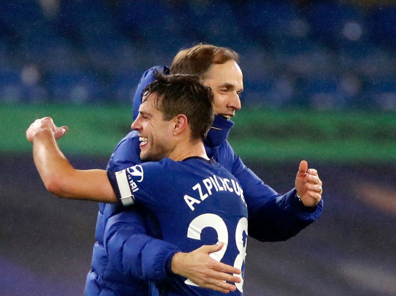
[[[181,51],[175,57],[171,71],[198,75],[201,82],[213,90],[216,116],[204,141],[205,149],[209,158],[222,164],[242,185],[249,213],[249,236],[260,241],[285,240],[296,235],[321,215],[322,181],[316,170],[308,169],[307,162],[302,161],[295,179],[295,189],[281,195],[265,185],[235,155],[226,139],[233,126],[229,119],[241,108],[239,94],[243,90],[243,76],[237,61],[238,55],[230,49],[197,45]],[[194,69],[197,70],[193,71]],[[156,73],[167,71],[166,67],[154,67],[143,75],[133,102],[134,119],[138,115],[142,90],[155,80]],[[146,142],[144,138],[140,140]],[[109,160],[108,174],[112,175],[140,164],[142,160],[139,158],[139,144],[139,138],[133,132],[120,141]],[[56,149],[52,152],[51,149],[46,151],[49,152],[46,159],[59,153]],[[40,166],[40,161],[36,158],[35,161]],[[58,196],[101,202],[115,201],[114,197],[107,196],[107,192],[101,190],[101,183],[93,180],[81,186],[67,182],[58,186],[56,181],[54,184],[51,192]],[[158,225],[155,218],[152,219],[152,213],[144,207],[128,208],[128,226],[123,224],[122,231],[108,232],[109,225],[113,225],[112,217],[120,211],[126,209],[117,204],[101,203],[99,206],[95,234],[97,243],[93,250],[92,270],[87,278],[87,295],[100,295],[104,290],[113,291],[109,295],[121,295],[122,291],[126,291],[123,287],[128,287],[129,294],[147,295],[147,281],[172,280],[175,274],[187,277],[202,287],[222,292],[235,290],[234,285],[224,280],[227,273],[237,273],[237,270],[232,269],[233,266],[218,264],[219,262],[208,256],[221,248],[212,245],[189,253],[180,252],[175,245],[158,239],[162,236],[156,227]],[[109,249],[107,241],[110,239],[119,239],[124,243],[118,248]],[[122,264],[114,266],[110,257],[117,256],[122,258],[119,260]],[[118,271],[114,269],[122,271],[123,276],[115,279],[113,273]],[[227,281],[232,282],[230,279]],[[237,280],[234,282],[238,283]]]

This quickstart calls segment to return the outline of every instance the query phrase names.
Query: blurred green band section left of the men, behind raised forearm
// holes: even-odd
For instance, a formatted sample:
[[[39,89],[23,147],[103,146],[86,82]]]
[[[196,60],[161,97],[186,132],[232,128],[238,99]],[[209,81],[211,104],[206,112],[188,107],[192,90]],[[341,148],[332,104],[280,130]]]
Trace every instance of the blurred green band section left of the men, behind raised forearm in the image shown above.
[[[109,156],[130,130],[129,107],[76,105],[0,105],[0,152],[31,152],[25,131],[35,119],[49,116],[69,127],[58,143],[66,154]]]

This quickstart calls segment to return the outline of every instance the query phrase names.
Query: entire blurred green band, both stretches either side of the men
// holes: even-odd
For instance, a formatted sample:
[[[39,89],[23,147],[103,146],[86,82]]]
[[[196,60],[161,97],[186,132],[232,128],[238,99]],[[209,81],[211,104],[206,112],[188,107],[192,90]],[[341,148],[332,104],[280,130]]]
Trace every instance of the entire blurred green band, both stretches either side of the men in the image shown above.
[[[257,160],[396,163],[396,113],[244,108],[229,141],[243,158]],[[69,132],[59,140],[67,155],[109,156],[129,131],[124,106],[0,105],[0,153],[31,153],[25,130],[53,117]]]

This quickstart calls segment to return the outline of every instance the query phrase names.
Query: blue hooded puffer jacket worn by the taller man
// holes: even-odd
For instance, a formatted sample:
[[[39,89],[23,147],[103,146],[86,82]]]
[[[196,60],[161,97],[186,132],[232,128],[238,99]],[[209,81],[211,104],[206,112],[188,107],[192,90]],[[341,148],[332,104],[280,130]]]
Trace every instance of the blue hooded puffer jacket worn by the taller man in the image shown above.
[[[137,117],[141,92],[154,80],[156,71],[166,72],[168,68],[157,66],[145,72],[135,94],[133,118]],[[208,156],[231,172],[244,189],[249,236],[260,241],[282,241],[295,236],[318,219],[323,202],[308,210],[297,200],[295,189],[281,195],[265,185],[235,155],[226,140],[233,125],[232,121],[216,116],[215,128],[209,131],[205,147]],[[139,138],[132,131],[118,143],[109,160],[108,173],[141,163],[139,152]],[[92,270],[85,288],[87,296],[153,295],[158,291],[150,292],[148,281],[174,276],[170,262],[179,248],[161,240],[161,230],[147,208],[100,204],[95,237]]]

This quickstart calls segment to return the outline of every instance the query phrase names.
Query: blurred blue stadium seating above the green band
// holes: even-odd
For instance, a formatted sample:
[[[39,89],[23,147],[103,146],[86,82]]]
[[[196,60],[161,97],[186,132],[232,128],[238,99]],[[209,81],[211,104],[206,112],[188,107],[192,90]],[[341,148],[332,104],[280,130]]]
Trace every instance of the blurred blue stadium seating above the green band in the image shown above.
[[[308,106],[327,94],[332,107],[380,106],[373,97],[382,82],[375,81],[395,71],[395,15],[395,5],[366,9],[335,0],[62,0],[49,18],[37,0],[1,1],[0,68],[12,69],[6,71],[10,77],[2,76],[1,100],[40,101],[49,94],[54,102],[106,96],[125,102],[131,79],[204,42],[240,53],[244,104]],[[21,81],[30,65],[40,71],[35,85]],[[360,98],[331,90],[348,73],[361,80]],[[326,87],[320,79],[329,75],[341,82]]]

